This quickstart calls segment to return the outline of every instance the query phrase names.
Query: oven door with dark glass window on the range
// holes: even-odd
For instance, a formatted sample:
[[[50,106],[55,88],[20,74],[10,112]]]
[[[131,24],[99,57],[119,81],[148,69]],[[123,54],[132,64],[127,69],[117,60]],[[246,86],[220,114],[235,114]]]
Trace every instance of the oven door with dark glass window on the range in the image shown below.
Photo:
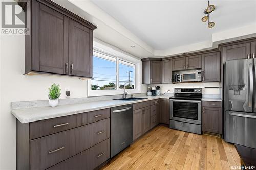
[[[201,101],[170,99],[170,119],[201,125]]]

